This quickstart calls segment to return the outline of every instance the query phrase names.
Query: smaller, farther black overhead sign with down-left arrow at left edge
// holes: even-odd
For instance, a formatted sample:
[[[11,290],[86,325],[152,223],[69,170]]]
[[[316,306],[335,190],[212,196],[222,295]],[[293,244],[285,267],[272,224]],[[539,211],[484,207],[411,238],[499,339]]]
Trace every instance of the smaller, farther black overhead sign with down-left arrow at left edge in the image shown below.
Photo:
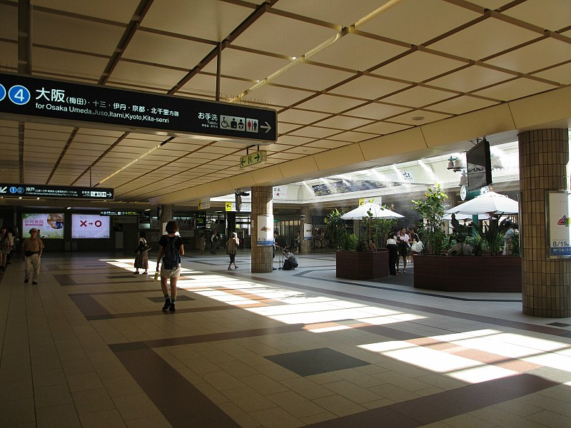
[[[19,198],[113,199],[113,189],[82,188],[64,185],[0,183],[0,196]]]

